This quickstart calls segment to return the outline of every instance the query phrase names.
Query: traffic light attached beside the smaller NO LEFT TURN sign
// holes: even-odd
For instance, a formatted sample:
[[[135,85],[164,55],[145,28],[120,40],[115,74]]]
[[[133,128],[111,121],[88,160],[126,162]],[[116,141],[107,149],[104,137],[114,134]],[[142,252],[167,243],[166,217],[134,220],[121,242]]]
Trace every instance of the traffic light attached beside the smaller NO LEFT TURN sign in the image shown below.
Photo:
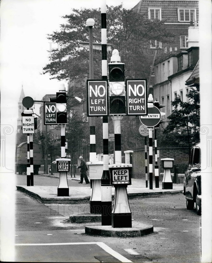
[[[66,92],[57,92],[49,101],[57,104],[57,124],[67,123]]]

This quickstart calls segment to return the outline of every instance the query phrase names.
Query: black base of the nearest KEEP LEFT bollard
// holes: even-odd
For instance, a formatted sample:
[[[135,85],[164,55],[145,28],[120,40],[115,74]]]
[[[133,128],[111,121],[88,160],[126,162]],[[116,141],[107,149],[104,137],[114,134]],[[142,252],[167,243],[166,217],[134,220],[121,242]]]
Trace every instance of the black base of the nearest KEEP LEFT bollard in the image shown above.
[[[112,227],[132,227],[132,213],[112,214]]]

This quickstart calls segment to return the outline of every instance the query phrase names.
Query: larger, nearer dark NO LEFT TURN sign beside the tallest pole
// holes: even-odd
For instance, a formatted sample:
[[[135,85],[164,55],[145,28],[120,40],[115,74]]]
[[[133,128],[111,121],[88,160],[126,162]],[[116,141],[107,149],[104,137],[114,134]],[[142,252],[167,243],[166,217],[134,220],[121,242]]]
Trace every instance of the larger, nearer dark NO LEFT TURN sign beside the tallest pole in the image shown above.
[[[108,87],[106,80],[87,80],[88,116],[108,115]]]

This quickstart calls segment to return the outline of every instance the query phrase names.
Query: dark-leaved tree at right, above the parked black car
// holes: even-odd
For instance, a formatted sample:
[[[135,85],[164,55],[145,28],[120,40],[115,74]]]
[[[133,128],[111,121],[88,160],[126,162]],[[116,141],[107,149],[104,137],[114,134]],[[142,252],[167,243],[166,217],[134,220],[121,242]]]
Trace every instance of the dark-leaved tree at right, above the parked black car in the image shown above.
[[[174,141],[179,145],[188,145],[192,141],[199,141],[200,126],[200,101],[199,87],[190,88],[188,95],[189,102],[182,102],[178,96],[173,102],[174,110],[168,116],[169,123],[164,130],[167,136],[173,136]]]

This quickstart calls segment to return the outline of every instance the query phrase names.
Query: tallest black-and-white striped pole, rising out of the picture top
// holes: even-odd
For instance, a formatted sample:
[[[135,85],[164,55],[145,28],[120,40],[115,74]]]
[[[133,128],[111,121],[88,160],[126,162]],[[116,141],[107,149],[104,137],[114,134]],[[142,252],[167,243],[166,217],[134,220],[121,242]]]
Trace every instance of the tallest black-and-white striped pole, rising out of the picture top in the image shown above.
[[[102,40],[102,79],[107,79],[107,22],[106,22],[106,0],[101,6],[101,40]],[[108,116],[103,116],[103,174],[101,178],[102,186],[102,226],[111,225],[112,212],[112,186],[110,186],[109,175],[109,150],[108,150]]]

